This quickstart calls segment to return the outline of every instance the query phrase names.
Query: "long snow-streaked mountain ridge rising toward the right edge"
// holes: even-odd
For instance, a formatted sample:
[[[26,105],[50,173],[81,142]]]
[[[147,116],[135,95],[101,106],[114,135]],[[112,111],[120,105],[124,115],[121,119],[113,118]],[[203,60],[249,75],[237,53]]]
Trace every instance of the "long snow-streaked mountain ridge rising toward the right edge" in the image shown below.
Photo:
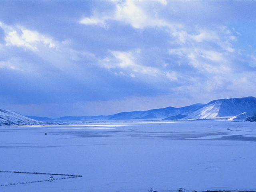
[[[127,119],[204,119],[234,117],[230,120],[243,120],[256,114],[256,98],[231,98],[213,100],[208,104],[194,104],[182,108],[167,107],[148,111],[122,112],[108,118],[108,120]]]

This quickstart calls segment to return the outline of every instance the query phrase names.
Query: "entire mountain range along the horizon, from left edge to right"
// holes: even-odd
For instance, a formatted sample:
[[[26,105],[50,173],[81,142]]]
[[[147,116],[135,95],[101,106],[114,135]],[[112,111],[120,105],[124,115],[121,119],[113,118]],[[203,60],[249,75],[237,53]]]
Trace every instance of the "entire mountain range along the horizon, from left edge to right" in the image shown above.
[[[256,98],[213,100],[208,104],[193,104],[181,108],[166,107],[147,111],[121,112],[108,116],[65,116],[47,118],[22,116],[13,111],[0,110],[0,125],[39,125],[46,123],[72,123],[94,120],[190,120],[215,119],[244,120],[256,114]],[[249,118],[252,119],[252,118]]]

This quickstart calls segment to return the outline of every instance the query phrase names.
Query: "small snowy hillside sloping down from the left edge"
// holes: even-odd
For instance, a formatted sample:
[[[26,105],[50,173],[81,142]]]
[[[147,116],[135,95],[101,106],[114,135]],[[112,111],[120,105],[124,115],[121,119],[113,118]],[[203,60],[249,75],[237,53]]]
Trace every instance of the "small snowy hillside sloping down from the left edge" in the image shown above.
[[[43,122],[22,116],[14,111],[0,109],[0,125],[42,125]]]

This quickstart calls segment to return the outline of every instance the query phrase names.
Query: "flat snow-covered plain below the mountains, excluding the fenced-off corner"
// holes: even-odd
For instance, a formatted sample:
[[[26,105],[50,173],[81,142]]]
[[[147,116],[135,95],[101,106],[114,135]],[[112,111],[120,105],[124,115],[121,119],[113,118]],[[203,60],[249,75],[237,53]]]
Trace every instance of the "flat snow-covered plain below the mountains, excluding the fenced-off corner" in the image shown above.
[[[0,191],[256,190],[255,151],[255,122],[0,126],[0,170],[82,175]]]

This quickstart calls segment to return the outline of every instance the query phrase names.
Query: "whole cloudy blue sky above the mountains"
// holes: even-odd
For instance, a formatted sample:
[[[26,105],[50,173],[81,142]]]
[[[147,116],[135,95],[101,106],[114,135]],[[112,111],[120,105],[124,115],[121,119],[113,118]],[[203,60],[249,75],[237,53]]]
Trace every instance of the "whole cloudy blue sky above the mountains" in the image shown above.
[[[0,1],[0,109],[110,115],[256,96],[256,1]]]

